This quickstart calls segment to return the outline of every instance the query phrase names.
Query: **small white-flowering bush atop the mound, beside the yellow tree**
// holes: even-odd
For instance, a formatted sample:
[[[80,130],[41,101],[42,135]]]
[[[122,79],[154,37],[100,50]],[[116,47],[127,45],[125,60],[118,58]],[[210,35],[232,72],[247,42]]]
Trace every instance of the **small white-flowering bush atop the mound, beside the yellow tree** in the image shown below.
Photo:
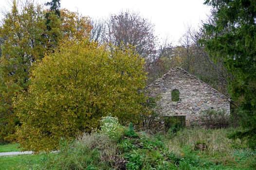
[[[100,132],[110,139],[118,140],[124,134],[124,128],[119,123],[118,118],[107,116],[101,119]]]

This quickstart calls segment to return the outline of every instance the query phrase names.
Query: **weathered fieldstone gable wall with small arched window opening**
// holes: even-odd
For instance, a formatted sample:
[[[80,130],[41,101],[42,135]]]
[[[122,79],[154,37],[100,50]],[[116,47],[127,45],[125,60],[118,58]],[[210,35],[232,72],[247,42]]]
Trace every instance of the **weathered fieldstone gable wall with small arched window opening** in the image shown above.
[[[186,126],[198,122],[200,112],[205,109],[224,109],[230,114],[229,98],[183,68],[171,68],[146,89],[150,96],[160,97],[157,103],[162,116],[185,116]],[[173,90],[180,92],[178,102],[172,101]]]

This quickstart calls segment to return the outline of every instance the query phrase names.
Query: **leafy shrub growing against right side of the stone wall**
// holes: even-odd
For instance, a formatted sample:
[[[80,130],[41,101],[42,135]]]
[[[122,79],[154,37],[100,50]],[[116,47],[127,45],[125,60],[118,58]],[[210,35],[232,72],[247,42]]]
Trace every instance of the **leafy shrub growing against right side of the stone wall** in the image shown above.
[[[229,115],[224,110],[206,109],[200,114],[201,125],[211,129],[229,127]]]

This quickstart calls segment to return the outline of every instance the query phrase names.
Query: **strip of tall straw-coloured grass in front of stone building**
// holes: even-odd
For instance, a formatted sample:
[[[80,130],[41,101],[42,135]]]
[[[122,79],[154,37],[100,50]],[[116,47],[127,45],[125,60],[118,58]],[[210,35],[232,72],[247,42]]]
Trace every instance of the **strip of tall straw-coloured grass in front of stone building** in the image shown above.
[[[227,135],[233,132],[233,129],[183,129],[176,135],[170,137],[170,147],[186,147],[196,150],[196,145],[204,143],[207,146],[206,152],[214,155],[221,153],[234,153],[237,148],[245,148],[246,141],[240,139],[229,139]]]

